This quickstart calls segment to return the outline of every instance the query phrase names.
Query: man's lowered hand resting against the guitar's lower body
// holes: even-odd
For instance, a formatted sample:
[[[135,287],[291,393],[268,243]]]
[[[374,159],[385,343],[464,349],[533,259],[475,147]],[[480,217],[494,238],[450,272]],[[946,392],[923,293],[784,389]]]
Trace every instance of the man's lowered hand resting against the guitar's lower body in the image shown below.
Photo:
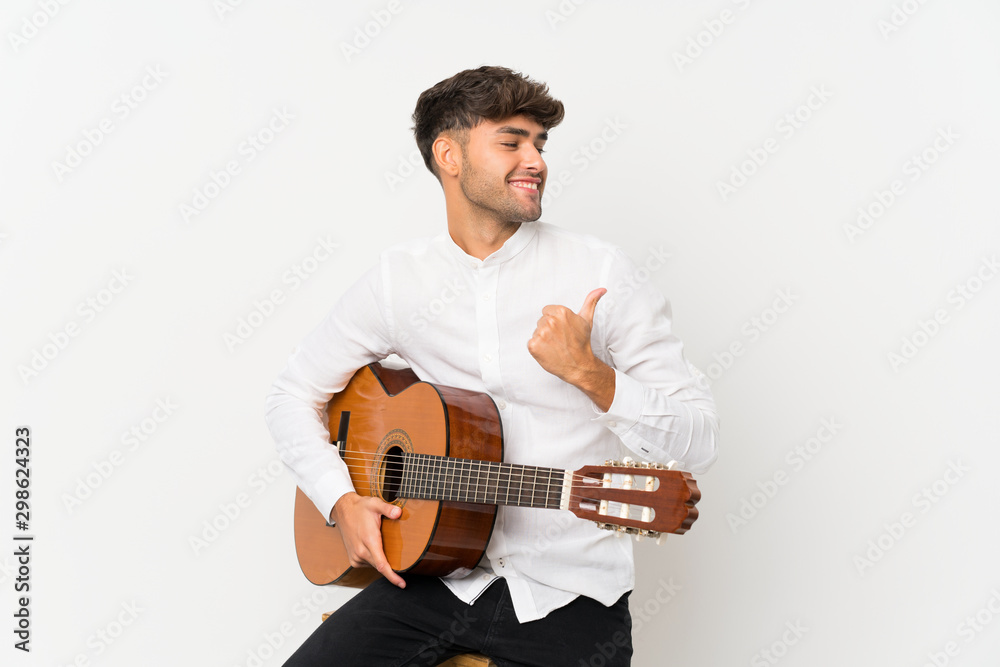
[[[330,512],[330,519],[340,528],[351,567],[371,565],[392,583],[406,588],[403,578],[389,567],[382,549],[381,532],[382,517],[398,519],[402,513],[399,507],[384,500],[352,492],[340,497]]]

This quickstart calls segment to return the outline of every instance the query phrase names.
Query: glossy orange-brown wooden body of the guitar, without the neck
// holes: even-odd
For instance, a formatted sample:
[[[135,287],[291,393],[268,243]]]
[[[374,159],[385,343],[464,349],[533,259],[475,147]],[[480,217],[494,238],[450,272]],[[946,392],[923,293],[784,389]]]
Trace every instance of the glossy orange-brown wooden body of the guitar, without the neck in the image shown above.
[[[402,452],[483,461],[503,460],[500,415],[479,392],[420,382],[413,371],[373,363],[359,370],[327,408],[331,433],[349,413],[342,457],[354,489],[402,508],[382,520],[382,543],[393,570],[444,576],[471,570],[482,559],[497,507],[396,497],[393,465]],[[381,575],[352,567],[340,529],[328,525],[296,489],[295,550],[314,584],[364,587]]]

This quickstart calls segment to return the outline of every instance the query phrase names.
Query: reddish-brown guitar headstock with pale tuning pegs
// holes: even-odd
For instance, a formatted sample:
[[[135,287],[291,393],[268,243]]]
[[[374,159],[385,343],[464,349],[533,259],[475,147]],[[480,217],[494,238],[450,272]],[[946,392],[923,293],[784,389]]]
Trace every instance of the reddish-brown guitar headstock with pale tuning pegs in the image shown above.
[[[572,473],[570,510],[601,528],[640,537],[686,533],[698,518],[701,491],[690,473],[630,458]]]

